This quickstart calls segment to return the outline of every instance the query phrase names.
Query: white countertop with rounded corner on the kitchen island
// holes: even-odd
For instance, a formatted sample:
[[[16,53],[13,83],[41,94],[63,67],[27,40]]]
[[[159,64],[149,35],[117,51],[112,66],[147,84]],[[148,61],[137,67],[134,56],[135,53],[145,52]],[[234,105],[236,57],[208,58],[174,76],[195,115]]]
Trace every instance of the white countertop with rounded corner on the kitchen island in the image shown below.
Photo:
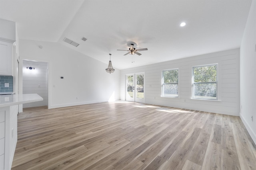
[[[8,94],[0,95],[0,107],[42,101],[38,94]]]

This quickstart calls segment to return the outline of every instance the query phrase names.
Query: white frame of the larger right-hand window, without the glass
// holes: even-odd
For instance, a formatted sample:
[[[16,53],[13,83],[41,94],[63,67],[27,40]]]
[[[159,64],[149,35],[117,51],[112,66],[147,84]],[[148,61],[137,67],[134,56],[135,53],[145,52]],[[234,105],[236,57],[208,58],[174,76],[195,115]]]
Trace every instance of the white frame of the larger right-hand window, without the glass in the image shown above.
[[[205,67],[205,66],[216,66],[216,82],[194,82],[194,68]],[[195,97],[195,86],[194,86],[194,84],[216,84],[216,99]],[[205,65],[200,65],[200,66],[192,66],[192,99],[214,100],[214,101],[217,100],[218,101],[218,63],[216,63],[216,64],[205,64]]]

